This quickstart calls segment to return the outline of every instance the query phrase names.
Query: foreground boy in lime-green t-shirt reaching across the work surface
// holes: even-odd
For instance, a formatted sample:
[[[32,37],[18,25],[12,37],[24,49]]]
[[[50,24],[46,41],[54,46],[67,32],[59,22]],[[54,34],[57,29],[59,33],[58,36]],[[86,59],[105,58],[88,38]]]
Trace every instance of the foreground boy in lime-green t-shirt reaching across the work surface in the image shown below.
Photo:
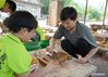
[[[0,77],[43,77],[52,70],[55,62],[39,68],[38,60],[35,57],[36,62],[32,62],[34,59],[23,44],[35,34],[35,17],[29,12],[16,11],[8,21],[10,34],[0,38]]]

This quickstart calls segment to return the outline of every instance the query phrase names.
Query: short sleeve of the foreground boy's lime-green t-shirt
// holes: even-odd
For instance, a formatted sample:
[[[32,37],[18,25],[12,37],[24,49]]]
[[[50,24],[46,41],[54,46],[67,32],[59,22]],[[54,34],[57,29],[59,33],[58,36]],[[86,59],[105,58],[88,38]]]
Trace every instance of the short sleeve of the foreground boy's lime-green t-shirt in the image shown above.
[[[7,50],[8,65],[16,74],[23,74],[29,70],[32,56],[23,46],[10,48]]]

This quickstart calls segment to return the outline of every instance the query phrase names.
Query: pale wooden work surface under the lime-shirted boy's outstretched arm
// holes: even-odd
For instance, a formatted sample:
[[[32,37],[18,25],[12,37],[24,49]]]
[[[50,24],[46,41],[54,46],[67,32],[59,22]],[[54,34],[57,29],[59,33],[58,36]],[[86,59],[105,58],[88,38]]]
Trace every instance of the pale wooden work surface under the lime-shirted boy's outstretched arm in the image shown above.
[[[46,55],[45,50],[36,51],[37,55]],[[88,77],[92,73],[96,72],[97,67],[91,63],[80,64],[76,59],[62,62],[61,66],[56,70],[46,74],[45,77]]]

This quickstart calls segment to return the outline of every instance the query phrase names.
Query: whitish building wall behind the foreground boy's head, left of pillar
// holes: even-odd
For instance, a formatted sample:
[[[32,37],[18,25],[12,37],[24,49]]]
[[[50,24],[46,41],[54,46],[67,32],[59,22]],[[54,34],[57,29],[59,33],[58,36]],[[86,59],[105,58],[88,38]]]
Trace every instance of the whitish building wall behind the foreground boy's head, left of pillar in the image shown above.
[[[16,1],[16,10],[24,10],[31,12],[35,17],[40,18],[40,10],[41,5],[35,4],[35,3],[29,3],[26,1]]]

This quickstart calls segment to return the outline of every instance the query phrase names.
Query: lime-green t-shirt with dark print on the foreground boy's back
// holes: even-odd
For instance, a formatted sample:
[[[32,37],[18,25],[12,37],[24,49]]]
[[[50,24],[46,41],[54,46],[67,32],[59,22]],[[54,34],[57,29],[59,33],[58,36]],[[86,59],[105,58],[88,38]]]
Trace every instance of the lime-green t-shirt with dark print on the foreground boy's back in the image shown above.
[[[19,38],[10,34],[0,38],[0,77],[26,73],[31,62],[31,54]]]

